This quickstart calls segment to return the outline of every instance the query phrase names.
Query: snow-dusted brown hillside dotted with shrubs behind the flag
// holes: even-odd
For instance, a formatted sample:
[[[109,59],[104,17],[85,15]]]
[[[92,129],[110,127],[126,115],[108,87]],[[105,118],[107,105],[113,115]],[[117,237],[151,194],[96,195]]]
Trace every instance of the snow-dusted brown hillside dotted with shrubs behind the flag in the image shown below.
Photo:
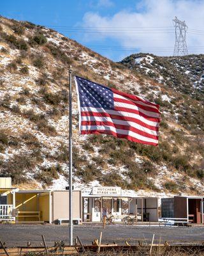
[[[160,60],[150,55],[144,65],[140,57],[129,58],[141,63],[132,65],[128,59],[114,63],[52,29],[1,17],[1,175],[11,176],[21,188],[66,186],[68,68],[72,65],[73,75],[145,97],[159,103],[162,113],[159,147],[111,136],[79,136],[73,84],[75,187],[101,184],[138,193],[203,193],[201,71],[195,76],[186,73],[191,56],[185,57],[185,72],[179,71],[178,64],[178,77],[175,63],[180,58]]]

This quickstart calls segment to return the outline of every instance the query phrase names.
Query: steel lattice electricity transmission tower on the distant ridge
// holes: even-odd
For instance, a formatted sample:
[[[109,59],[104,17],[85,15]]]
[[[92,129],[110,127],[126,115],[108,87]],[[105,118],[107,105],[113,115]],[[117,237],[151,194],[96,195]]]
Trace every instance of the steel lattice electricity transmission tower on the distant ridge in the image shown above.
[[[187,55],[187,44],[186,44],[186,31],[187,25],[185,21],[181,21],[175,17],[173,19],[173,26],[175,27],[175,47],[173,56],[184,56]]]

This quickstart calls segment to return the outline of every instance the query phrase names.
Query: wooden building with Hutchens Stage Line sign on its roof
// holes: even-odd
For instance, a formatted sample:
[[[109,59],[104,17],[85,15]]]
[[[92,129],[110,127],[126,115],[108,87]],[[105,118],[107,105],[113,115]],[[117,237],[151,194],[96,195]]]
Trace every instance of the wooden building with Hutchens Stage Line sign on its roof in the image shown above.
[[[119,187],[93,187],[91,194],[82,194],[82,212],[84,222],[101,222],[108,214],[118,222],[127,215],[158,221],[158,198],[124,195]]]

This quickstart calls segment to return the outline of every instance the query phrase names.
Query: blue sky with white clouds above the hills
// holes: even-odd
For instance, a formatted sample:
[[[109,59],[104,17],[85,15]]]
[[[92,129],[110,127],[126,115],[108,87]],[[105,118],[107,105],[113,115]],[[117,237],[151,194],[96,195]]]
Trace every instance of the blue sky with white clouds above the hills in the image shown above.
[[[114,61],[141,51],[172,55],[177,15],[189,26],[189,53],[204,50],[204,1],[1,0],[0,12],[54,28]]]

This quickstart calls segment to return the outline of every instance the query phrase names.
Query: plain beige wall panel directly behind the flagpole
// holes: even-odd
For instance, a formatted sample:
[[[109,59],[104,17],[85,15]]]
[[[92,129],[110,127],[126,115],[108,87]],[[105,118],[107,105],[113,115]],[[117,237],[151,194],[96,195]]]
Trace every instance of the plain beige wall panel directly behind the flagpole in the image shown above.
[[[52,221],[69,219],[69,191],[52,192]],[[73,191],[73,218],[82,218],[81,191]]]

